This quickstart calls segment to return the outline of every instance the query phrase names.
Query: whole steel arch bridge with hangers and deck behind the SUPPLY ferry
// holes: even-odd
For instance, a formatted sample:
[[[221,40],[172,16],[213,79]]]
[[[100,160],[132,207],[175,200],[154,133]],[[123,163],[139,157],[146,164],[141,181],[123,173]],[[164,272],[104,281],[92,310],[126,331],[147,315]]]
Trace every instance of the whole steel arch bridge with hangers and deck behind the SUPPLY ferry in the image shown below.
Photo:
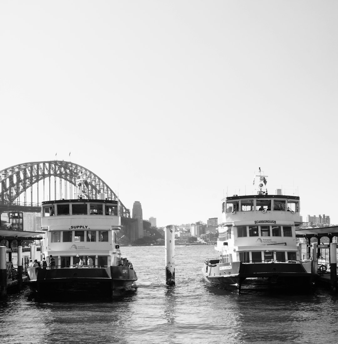
[[[70,161],[33,161],[0,171],[0,214],[40,212],[42,201],[76,198],[76,178],[80,173],[88,182],[88,198],[97,199],[104,193],[108,200],[117,200],[107,183],[84,166]],[[143,236],[142,218],[134,214],[130,217],[130,210],[121,201],[120,216],[120,236],[124,235],[127,241]]]

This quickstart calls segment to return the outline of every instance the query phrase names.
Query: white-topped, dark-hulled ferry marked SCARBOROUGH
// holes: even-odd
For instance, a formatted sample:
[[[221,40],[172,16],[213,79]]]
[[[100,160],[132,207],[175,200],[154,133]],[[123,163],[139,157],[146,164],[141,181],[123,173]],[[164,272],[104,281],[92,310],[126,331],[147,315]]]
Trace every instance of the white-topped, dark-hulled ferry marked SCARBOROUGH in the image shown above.
[[[216,258],[206,259],[204,278],[213,286],[237,290],[255,281],[273,286],[307,288],[313,279],[313,261],[302,261],[295,227],[300,224],[298,196],[269,195],[261,169],[257,194],[233,195],[222,200],[222,223]],[[264,283],[263,283],[264,285]],[[262,283],[260,283],[262,286]]]

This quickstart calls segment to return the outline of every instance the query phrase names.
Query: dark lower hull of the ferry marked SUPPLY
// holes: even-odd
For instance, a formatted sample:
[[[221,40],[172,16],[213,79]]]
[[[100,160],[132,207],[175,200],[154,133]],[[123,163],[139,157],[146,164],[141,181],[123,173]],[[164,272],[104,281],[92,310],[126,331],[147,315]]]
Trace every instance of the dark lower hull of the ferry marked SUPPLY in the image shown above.
[[[107,268],[38,268],[36,280],[30,281],[32,290],[39,294],[57,296],[63,293],[98,297],[114,296],[133,287],[136,272],[130,267]]]

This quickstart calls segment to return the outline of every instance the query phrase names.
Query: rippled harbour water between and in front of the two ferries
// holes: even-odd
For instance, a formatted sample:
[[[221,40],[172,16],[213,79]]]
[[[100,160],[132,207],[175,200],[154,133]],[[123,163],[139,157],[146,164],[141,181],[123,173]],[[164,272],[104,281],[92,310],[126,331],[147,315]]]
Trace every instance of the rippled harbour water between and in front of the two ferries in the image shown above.
[[[28,288],[0,302],[2,344],[337,343],[338,295],[245,290],[205,284],[213,246],[177,246],[176,285],[165,283],[163,246],[121,247],[137,287],[112,301],[41,300]]]

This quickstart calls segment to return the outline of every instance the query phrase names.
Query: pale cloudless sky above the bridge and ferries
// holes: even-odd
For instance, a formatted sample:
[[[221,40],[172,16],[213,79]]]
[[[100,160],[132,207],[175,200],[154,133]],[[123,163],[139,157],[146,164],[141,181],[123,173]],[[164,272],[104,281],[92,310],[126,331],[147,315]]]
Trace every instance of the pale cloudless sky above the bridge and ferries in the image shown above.
[[[337,1],[0,2],[0,170],[70,160],[158,226],[221,198],[337,215]]]

